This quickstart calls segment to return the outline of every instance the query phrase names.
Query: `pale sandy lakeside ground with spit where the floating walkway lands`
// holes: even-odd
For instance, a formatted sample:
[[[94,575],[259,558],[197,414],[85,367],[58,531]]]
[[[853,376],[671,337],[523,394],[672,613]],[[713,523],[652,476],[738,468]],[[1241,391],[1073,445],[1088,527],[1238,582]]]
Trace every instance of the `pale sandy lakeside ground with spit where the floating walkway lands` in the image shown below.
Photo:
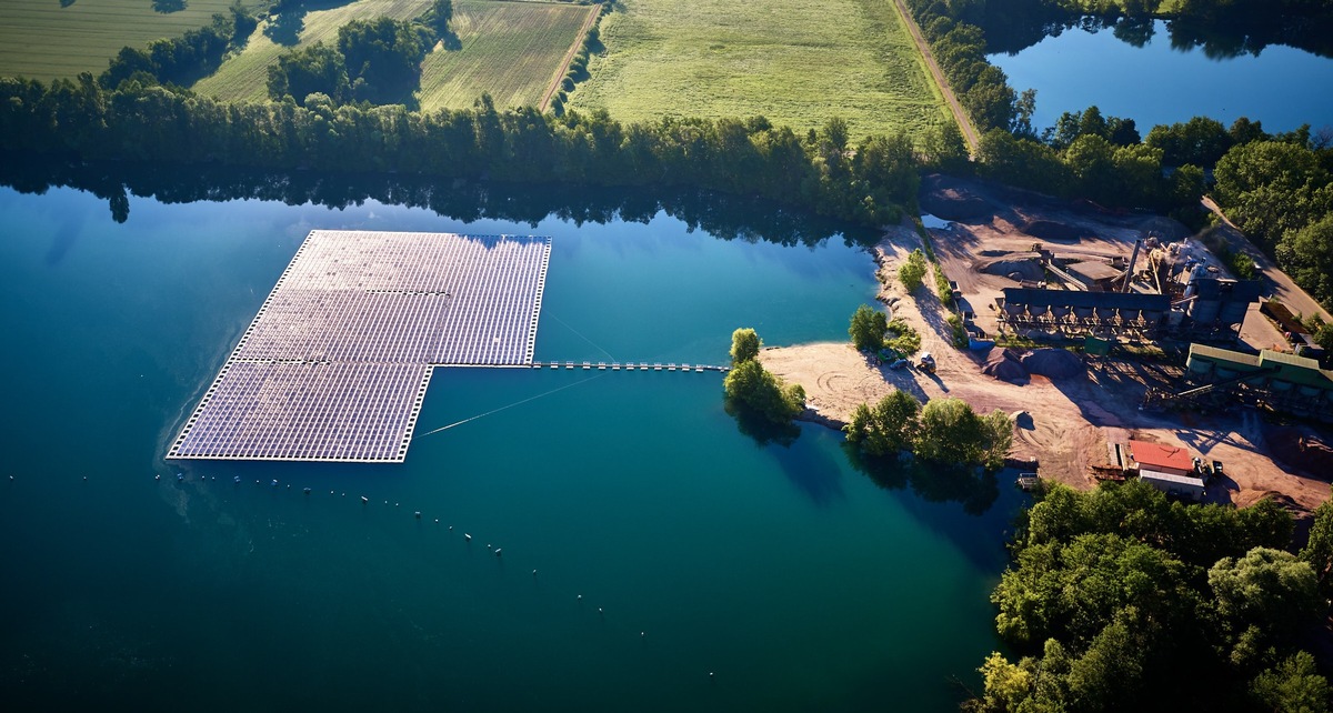
[[[1089,361],[1085,374],[1058,381],[1033,374],[1021,385],[982,373],[984,352],[962,352],[946,341],[948,312],[930,289],[933,283],[928,280],[928,285],[908,295],[897,281],[897,265],[917,247],[920,237],[902,227],[886,233],[874,248],[884,285],[880,300],[921,333],[922,351],[934,355],[938,365],[934,374],[876,366],[850,343],[765,348],[760,353],[772,372],[800,384],[812,409],[834,426],[845,422],[858,404],[877,401],[894,389],[922,402],[952,396],[981,413],[1001,409],[1017,416],[1010,456],[1037,458],[1041,477],[1074,488],[1094,485],[1090,468],[1112,462],[1112,444],[1140,438],[1181,445],[1205,460],[1224,461],[1229,481],[1212,489],[1213,501],[1244,506],[1270,496],[1296,512],[1309,512],[1329,497],[1326,481],[1272,460],[1253,412],[1205,420],[1138,410],[1142,385],[1134,380],[1134,364]]]

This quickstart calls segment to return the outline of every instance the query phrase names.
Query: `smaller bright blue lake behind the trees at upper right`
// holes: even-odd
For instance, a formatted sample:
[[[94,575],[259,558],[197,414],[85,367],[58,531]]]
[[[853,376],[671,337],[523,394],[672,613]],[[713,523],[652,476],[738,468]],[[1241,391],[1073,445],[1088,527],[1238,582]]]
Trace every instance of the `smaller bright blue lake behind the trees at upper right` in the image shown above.
[[[1014,55],[988,56],[1017,92],[1037,91],[1033,127],[1096,104],[1104,116],[1133,119],[1141,135],[1157,124],[1209,116],[1230,125],[1246,116],[1268,132],[1333,124],[1333,59],[1269,45],[1258,55],[1213,59],[1202,48],[1172,47],[1156,20],[1144,47],[1112,29],[1065,29]]]

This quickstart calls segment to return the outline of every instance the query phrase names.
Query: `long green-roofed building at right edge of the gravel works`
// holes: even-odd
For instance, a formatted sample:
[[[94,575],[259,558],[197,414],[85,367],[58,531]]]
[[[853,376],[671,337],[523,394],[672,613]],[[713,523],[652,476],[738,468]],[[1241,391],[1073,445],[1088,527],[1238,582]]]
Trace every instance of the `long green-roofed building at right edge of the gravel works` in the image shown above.
[[[1246,402],[1297,416],[1333,417],[1333,372],[1313,358],[1264,349],[1257,355],[1189,347],[1189,376],[1202,384],[1192,390],[1221,390]],[[1189,393],[1189,392],[1186,392]]]

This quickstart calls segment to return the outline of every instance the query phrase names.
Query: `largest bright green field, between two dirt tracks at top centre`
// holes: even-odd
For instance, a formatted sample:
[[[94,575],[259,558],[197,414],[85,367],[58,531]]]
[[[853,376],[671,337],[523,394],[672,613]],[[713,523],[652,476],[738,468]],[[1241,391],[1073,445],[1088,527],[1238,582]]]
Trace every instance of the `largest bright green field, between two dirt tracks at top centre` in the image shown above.
[[[621,120],[764,115],[804,132],[830,116],[852,136],[949,120],[888,0],[621,0],[607,51],[571,97]]]

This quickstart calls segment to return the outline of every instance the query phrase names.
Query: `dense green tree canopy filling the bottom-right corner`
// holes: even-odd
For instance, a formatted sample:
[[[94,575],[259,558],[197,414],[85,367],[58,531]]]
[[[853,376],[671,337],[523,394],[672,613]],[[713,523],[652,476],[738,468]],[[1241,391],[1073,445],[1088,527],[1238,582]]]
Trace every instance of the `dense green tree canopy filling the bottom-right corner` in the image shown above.
[[[1170,502],[1141,482],[1054,485],[1020,517],[992,594],[1016,654],[981,666],[976,712],[1329,709],[1302,641],[1329,613],[1333,505],[1309,544],[1270,500]]]

